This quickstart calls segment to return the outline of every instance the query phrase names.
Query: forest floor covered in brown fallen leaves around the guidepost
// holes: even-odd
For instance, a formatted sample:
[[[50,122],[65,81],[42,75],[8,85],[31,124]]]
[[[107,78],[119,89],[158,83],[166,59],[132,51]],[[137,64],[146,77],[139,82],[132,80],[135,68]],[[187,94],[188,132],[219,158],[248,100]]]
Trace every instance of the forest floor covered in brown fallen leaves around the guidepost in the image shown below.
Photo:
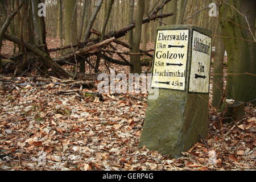
[[[6,55],[11,50],[8,45],[3,46]],[[110,65],[129,73],[127,67]],[[97,92],[98,81],[82,90],[72,81],[51,81],[40,85],[29,76],[0,76],[0,169],[256,169],[256,109],[251,104],[245,107],[245,117],[234,122],[222,121],[220,113],[209,106],[208,137],[173,159],[138,148],[147,94],[88,95],[81,93]],[[211,88],[212,84],[210,100]],[[79,92],[60,93],[71,89]]]

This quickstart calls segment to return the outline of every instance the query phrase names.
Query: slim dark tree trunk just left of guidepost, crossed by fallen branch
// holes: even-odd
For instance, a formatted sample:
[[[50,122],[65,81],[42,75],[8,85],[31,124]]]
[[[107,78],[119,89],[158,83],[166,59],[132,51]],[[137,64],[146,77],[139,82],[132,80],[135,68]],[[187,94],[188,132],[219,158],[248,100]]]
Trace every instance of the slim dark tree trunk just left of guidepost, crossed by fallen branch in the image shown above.
[[[145,9],[144,0],[138,0],[138,14],[135,22],[135,35],[134,35],[134,45],[132,52],[139,52],[139,46],[141,44],[141,32],[142,32],[142,22],[143,14]],[[133,55],[131,57],[131,64],[133,64],[133,73],[141,73],[141,56]]]

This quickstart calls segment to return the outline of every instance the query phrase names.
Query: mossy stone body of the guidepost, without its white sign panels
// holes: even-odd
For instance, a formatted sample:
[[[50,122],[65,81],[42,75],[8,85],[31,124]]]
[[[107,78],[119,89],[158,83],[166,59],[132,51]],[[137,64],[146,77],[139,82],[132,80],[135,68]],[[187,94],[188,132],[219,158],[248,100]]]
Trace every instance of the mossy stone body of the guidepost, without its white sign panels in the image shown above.
[[[207,36],[211,36],[212,32],[191,25],[163,26],[157,30],[179,30],[179,28],[189,30],[184,90],[159,88],[158,99],[148,100],[142,135],[139,140],[139,148],[146,146],[149,150],[159,151],[174,158],[179,157],[181,152],[189,150],[193,144],[199,142],[200,135],[207,137],[209,125],[209,92],[189,92],[189,78],[193,76],[191,75],[193,31]],[[210,60],[207,60],[207,63],[208,61]],[[209,79],[208,77],[209,75],[206,79]]]

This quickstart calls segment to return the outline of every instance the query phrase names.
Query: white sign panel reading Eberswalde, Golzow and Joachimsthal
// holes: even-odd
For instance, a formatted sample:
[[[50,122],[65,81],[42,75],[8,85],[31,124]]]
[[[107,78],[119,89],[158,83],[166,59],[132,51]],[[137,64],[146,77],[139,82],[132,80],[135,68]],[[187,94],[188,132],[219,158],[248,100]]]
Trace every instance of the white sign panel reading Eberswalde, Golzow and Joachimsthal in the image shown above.
[[[188,32],[158,31],[152,65],[152,87],[185,90]]]

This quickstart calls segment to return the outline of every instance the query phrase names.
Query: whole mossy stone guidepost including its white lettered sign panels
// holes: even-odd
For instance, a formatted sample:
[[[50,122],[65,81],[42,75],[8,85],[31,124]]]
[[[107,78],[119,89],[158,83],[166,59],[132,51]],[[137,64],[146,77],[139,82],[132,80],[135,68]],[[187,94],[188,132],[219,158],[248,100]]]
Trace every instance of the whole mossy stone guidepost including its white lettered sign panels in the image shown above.
[[[212,32],[191,25],[157,29],[151,88],[139,147],[178,157],[207,137]]]

